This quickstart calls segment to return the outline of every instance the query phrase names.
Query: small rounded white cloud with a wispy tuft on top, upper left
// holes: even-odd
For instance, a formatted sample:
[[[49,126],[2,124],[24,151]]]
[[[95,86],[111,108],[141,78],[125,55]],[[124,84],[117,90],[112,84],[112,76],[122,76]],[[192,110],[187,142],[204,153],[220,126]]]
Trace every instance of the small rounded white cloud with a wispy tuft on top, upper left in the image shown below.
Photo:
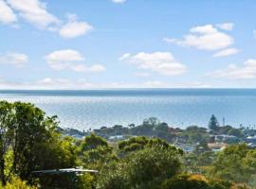
[[[93,26],[85,22],[78,22],[75,14],[68,15],[68,22],[59,30],[60,36],[64,38],[76,38],[87,34],[93,29]]]

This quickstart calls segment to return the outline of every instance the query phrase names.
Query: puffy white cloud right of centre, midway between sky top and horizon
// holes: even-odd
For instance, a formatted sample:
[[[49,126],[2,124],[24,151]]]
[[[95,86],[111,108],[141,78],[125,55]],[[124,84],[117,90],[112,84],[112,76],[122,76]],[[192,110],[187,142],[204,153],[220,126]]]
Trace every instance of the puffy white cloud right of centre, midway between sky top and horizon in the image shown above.
[[[140,52],[134,56],[126,53],[119,60],[128,60],[130,63],[136,64],[140,69],[151,70],[167,76],[181,75],[187,70],[185,65],[174,60],[170,52]]]

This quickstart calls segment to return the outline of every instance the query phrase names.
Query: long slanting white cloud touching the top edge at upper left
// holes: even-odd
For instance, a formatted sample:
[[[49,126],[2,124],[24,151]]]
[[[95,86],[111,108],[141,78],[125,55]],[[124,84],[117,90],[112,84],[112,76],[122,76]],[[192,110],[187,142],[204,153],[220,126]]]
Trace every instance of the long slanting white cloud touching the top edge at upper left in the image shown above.
[[[39,0],[7,0],[9,6],[32,25],[51,29],[60,23],[60,20],[46,10],[46,4]]]

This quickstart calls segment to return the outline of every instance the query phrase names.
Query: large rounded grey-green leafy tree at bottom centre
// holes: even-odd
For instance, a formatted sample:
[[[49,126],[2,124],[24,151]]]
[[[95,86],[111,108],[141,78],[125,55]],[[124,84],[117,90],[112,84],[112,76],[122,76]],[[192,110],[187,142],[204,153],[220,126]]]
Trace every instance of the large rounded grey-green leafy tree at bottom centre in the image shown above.
[[[98,189],[155,188],[181,170],[180,151],[151,147],[132,153],[101,172]]]

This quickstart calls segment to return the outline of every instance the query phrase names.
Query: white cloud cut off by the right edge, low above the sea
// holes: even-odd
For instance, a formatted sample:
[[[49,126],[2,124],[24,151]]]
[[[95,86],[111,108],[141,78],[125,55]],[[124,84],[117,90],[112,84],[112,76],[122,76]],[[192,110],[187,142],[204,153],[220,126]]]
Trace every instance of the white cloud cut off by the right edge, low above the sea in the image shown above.
[[[216,70],[209,74],[212,77],[227,77],[229,79],[249,79],[256,77],[256,60],[247,60],[244,66],[229,64],[228,68]]]

